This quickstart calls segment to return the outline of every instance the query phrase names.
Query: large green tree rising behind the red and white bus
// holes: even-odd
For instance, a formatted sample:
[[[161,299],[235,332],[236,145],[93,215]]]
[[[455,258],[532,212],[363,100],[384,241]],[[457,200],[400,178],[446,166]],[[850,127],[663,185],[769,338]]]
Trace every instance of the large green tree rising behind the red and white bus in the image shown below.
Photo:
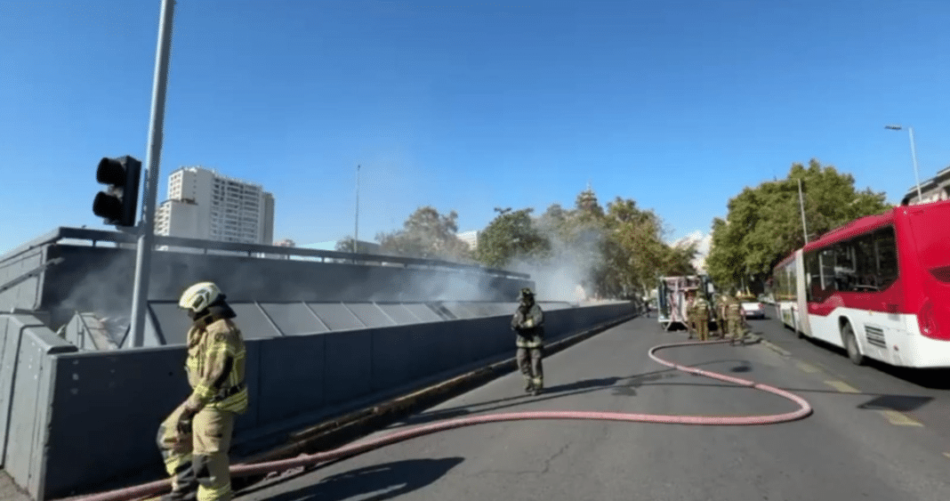
[[[767,279],[771,269],[805,243],[799,203],[805,205],[808,241],[846,222],[890,208],[883,193],[857,191],[854,177],[812,159],[792,164],[784,180],[746,187],[730,199],[725,220],[712,221],[706,266],[721,286],[746,287]]]

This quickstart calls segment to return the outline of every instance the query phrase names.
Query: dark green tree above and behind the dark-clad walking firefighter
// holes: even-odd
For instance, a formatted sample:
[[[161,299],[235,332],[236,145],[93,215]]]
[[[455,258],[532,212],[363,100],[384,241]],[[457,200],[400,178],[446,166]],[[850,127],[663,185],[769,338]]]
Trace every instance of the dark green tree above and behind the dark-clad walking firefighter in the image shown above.
[[[474,253],[491,267],[504,267],[515,258],[543,260],[550,255],[551,241],[542,235],[531,219],[532,208],[512,211],[495,207],[498,216],[479,233]]]

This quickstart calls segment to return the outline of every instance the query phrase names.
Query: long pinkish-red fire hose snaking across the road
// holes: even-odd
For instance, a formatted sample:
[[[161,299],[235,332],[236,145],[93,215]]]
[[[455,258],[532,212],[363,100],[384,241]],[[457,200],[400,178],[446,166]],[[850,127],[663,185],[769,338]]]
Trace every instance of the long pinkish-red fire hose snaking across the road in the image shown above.
[[[676,370],[691,373],[697,376],[711,377],[727,381],[739,386],[747,386],[756,390],[762,390],[774,395],[779,395],[798,404],[799,409],[785,414],[767,414],[767,415],[672,415],[672,414],[625,414],[625,413],[599,413],[592,411],[534,411],[523,413],[504,413],[504,414],[484,414],[469,417],[460,417],[447,421],[440,421],[428,425],[410,428],[402,432],[387,434],[377,438],[356,442],[346,445],[333,451],[323,453],[305,454],[290,459],[281,459],[277,461],[268,461],[255,464],[238,464],[231,467],[231,476],[233,478],[259,475],[272,472],[286,472],[300,467],[313,467],[320,463],[335,461],[338,459],[352,457],[361,453],[367,453],[374,449],[388,446],[397,442],[409,440],[417,436],[434,434],[455,428],[474,426],[484,423],[497,423],[502,421],[522,421],[527,419],[593,419],[607,421],[624,421],[639,423],[665,423],[665,424],[684,424],[684,425],[705,425],[705,426],[750,426],[776,424],[788,421],[802,419],[811,414],[811,405],[801,396],[792,394],[785,390],[769,386],[767,384],[756,383],[740,377],[726,376],[712,371],[704,371],[694,367],[687,367],[674,362],[664,360],[656,356],[656,352],[665,348],[676,346],[689,346],[694,344],[719,344],[729,342],[728,340],[718,341],[687,341],[669,344],[661,344],[650,349],[649,355],[659,364],[672,367]],[[170,480],[160,480],[139,486],[118,489],[115,491],[106,491],[88,496],[71,498],[70,501],[127,501],[139,499],[149,495],[159,494],[171,489]]]

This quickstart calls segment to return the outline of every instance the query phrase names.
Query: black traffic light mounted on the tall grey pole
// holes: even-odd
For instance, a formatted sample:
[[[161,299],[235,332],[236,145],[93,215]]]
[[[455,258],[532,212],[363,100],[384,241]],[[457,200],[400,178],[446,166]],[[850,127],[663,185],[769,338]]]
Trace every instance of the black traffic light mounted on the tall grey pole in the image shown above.
[[[128,155],[99,161],[96,181],[109,187],[96,194],[92,213],[104,218],[106,224],[135,226],[141,177],[142,162]]]

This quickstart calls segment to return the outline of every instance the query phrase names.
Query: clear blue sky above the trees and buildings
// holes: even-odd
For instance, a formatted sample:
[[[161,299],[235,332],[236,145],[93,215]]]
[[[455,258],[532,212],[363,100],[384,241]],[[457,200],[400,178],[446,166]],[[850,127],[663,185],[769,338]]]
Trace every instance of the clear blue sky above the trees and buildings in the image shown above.
[[[103,156],[145,160],[159,0],[0,0],[0,253],[111,229]],[[481,229],[591,183],[708,232],[816,158],[899,202],[950,164],[950,2],[179,0],[159,196],[180,165],[263,184],[276,240]]]

